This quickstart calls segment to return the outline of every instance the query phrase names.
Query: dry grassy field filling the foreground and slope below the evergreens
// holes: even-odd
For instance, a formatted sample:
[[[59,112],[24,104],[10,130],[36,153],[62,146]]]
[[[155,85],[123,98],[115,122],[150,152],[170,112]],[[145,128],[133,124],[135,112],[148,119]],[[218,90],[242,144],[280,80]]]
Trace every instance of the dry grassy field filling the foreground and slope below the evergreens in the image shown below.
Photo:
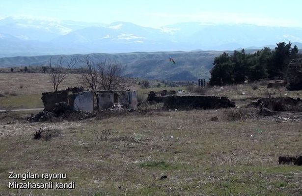
[[[255,85],[215,87],[207,94],[227,95],[240,105],[257,97],[301,95]],[[3,84],[1,88],[13,91]],[[145,95],[150,90],[139,91]],[[11,97],[39,94],[22,91]],[[278,165],[278,156],[301,155],[301,121],[230,120],[228,113],[236,111],[152,110],[45,123],[27,122],[26,112],[2,113],[0,196],[302,195],[302,167]],[[213,117],[218,120],[212,121]],[[40,128],[42,138],[34,140]],[[67,179],[52,181],[73,181],[75,189],[8,189],[13,181],[48,182],[8,179],[9,172],[66,173]]]

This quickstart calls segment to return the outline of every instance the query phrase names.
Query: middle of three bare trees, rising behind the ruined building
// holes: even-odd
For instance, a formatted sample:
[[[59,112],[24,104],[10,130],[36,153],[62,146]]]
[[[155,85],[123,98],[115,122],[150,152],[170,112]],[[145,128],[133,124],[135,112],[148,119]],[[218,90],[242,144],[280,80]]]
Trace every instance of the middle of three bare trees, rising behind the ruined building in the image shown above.
[[[94,97],[97,101],[97,107],[99,107],[97,92],[98,85],[100,83],[98,66],[93,63],[89,56],[85,56],[85,58],[82,60],[82,63],[85,66],[82,68],[82,84],[93,91]]]

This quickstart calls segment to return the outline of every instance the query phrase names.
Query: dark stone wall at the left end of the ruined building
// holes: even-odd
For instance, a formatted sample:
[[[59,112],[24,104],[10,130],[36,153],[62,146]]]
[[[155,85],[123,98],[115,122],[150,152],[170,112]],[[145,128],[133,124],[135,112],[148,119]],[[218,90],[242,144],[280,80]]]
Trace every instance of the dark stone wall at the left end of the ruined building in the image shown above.
[[[68,95],[69,91],[57,91],[57,92],[47,92],[42,93],[42,101],[44,104],[44,110],[53,111],[55,109],[55,104],[59,102],[65,102],[68,105]]]

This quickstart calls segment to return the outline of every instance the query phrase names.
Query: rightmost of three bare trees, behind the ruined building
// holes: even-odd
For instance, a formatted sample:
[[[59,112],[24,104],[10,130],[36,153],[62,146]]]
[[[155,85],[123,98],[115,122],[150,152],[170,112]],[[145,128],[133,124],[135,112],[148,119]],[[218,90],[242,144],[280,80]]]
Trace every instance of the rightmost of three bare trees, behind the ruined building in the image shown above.
[[[125,78],[121,77],[123,66],[117,61],[105,60],[98,63],[100,88],[103,90],[121,90],[126,86]]]

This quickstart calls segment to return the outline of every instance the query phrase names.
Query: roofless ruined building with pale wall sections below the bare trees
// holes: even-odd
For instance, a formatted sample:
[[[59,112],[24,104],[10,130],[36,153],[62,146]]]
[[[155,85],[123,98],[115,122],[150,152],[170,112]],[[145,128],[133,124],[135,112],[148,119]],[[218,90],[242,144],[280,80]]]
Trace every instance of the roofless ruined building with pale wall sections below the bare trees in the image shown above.
[[[53,111],[60,102],[72,110],[94,111],[95,100],[92,91],[83,91],[82,88],[68,88],[58,92],[42,94],[45,111]],[[135,91],[98,91],[99,110],[108,109],[119,104],[124,109],[137,108],[137,93]]]

